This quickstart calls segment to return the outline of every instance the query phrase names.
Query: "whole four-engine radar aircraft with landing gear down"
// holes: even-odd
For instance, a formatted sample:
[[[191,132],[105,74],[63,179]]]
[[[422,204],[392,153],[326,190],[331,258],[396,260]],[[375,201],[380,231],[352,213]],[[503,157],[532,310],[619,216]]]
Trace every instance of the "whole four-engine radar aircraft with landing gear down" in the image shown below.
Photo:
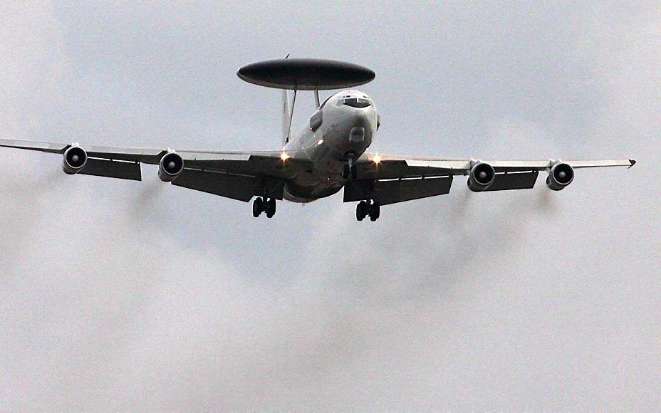
[[[356,218],[376,221],[383,205],[447,194],[456,175],[474,192],[534,187],[540,171],[553,191],[567,187],[574,169],[632,167],[635,160],[476,160],[380,155],[367,152],[380,117],[374,101],[353,90],[375,78],[372,70],[340,61],[285,58],[244,66],[249,83],[283,89],[283,147],[270,152],[137,149],[78,143],[0,140],[0,146],[63,155],[67,174],[141,179],[140,163],[157,164],[158,176],[177,187],[249,202],[255,217],[271,218],[276,200],[311,202],[344,188],[358,202]],[[346,89],[323,103],[319,90]],[[291,107],[288,90],[293,90]],[[298,90],[313,90],[316,110],[300,134],[291,135]]]

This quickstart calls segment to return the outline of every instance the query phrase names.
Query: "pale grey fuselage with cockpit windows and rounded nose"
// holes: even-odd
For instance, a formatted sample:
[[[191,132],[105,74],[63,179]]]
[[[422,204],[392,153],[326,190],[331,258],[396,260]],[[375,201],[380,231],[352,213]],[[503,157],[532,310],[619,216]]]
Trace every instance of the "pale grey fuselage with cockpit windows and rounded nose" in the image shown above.
[[[378,123],[374,102],[365,93],[343,90],[328,98],[312,115],[310,125],[283,148],[313,165],[286,183],[284,198],[311,202],[338,192],[346,181],[342,177],[344,165],[349,158],[358,159],[367,150]]]

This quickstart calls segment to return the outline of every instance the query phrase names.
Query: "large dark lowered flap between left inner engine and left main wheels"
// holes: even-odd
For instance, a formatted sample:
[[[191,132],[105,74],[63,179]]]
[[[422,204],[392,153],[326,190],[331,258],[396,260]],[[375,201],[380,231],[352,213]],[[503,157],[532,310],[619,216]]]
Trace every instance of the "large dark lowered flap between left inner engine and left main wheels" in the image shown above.
[[[254,195],[261,193],[261,182],[259,177],[184,169],[172,184],[248,202]]]

